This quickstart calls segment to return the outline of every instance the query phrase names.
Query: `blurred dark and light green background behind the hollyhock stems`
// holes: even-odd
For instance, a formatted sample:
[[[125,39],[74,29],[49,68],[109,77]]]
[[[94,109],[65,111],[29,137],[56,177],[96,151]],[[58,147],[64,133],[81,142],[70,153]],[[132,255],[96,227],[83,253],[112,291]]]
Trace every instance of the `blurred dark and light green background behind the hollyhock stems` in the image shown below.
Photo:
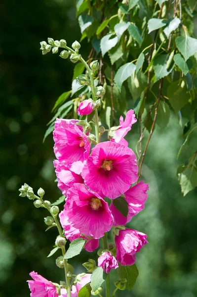
[[[45,199],[61,195],[54,183],[52,136],[44,144],[42,139],[54,101],[70,90],[74,68],[58,55],[42,56],[39,42],[64,38],[71,45],[80,39],[80,30],[73,0],[4,0],[0,11],[0,297],[27,297],[32,270],[53,282],[63,280],[56,255],[46,258],[57,235],[55,228],[44,232],[47,211],[18,197],[18,189],[26,182],[35,193],[42,187]],[[86,56],[90,51],[85,41],[81,51]],[[137,128],[127,138],[133,150]],[[129,224],[148,234],[149,245],[137,254],[139,278],[133,290],[118,296],[197,296],[197,190],[185,198],[181,194],[176,157],[182,143],[181,127],[171,113],[166,129],[156,128],[145,158],[146,207]],[[71,261],[77,273],[85,271],[80,262],[89,257],[83,251]],[[96,252],[91,257],[96,259]]]

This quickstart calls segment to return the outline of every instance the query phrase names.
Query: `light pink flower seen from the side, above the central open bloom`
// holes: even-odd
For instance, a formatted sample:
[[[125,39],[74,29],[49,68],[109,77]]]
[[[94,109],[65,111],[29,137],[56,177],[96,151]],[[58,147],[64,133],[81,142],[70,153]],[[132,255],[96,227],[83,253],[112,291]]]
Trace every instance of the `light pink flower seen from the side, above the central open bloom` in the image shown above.
[[[119,118],[119,126],[112,127],[109,132],[112,142],[121,143],[122,145],[128,146],[127,141],[124,139],[124,136],[131,130],[131,126],[137,122],[135,118],[134,110],[130,109],[126,113],[125,121],[123,117]]]

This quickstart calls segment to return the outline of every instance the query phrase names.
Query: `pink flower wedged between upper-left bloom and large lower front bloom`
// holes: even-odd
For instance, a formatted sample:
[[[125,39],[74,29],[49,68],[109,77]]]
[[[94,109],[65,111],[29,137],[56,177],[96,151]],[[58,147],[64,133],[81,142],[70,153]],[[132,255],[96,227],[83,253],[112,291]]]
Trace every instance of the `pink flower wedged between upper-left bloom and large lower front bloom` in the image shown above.
[[[79,161],[80,162],[80,161]],[[77,168],[74,166],[74,164],[79,163],[74,162],[72,166],[66,166],[65,162],[60,162],[58,160],[55,160],[53,162],[54,167],[56,168],[56,176],[58,180],[58,188],[62,191],[62,194],[66,196],[67,191],[69,188],[71,188],[75,183],[83,184],[83,178],[80,175],[80,170],[77,166]],[[82,164],[82,162],[80,162]],[[78,173],[76,173],[78,172]]]

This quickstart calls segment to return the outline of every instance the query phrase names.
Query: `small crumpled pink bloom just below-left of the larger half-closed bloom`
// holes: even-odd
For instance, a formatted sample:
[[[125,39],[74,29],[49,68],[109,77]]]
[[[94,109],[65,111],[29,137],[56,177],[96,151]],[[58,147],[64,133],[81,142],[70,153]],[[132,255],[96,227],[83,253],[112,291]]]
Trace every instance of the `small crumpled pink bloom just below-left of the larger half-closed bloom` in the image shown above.
[[[112,268],[118,268],[118,262],[109,251],[106,251],[98,258],[98,266],[102,267],[106,273],[110,273]]]

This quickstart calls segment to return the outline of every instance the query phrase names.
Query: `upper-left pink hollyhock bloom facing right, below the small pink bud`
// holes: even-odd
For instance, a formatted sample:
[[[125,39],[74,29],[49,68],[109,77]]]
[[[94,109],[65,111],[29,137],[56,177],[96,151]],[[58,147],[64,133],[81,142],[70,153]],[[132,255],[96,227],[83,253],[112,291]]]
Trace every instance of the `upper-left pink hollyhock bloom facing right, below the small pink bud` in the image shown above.
[[[54,152],[60,162],[64,161],[68,166],[75,161],[83,162],[87,159],[90,143],[87,136],[81,131],[81,127],[72,121],[57,118],[53,139],[55,142]]]

